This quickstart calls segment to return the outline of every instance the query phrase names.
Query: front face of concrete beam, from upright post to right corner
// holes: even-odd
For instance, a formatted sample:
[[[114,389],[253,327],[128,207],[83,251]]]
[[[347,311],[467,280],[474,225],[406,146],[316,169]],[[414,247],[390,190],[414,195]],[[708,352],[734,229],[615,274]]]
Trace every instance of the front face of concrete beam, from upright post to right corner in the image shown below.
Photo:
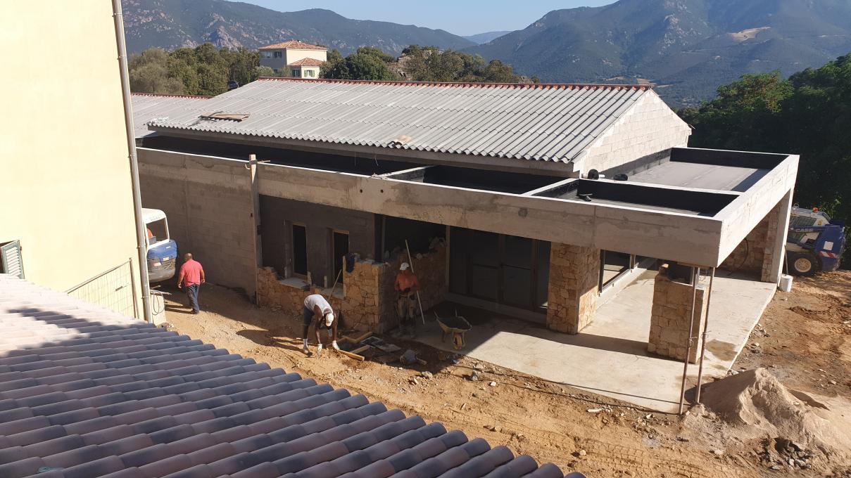
[[[266,196],[648,257],[700,263],[717,257],[721,224],[713,218],[273,164],[260,168],[260,194]]]

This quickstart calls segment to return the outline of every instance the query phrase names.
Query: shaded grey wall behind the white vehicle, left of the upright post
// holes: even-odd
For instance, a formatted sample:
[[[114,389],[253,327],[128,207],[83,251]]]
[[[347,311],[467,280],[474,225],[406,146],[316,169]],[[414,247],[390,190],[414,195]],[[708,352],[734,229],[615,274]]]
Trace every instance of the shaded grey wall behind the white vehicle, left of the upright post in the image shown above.
[[[192,253],[208,282],[253,297],[251,189],[244,163],[233,163],[223,167],[218,158],[140,150],[142,205],[166,213],[180,254]]]

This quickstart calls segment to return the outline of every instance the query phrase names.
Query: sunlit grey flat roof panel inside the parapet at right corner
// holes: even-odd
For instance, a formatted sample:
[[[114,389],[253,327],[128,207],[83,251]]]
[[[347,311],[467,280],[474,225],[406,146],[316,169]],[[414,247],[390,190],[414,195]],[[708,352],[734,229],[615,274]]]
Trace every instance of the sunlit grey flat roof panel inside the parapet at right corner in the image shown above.
[[[718,191],[747,191],[768,169],[737,168],[700,162],[663,162],[630,176],[631,181]]]

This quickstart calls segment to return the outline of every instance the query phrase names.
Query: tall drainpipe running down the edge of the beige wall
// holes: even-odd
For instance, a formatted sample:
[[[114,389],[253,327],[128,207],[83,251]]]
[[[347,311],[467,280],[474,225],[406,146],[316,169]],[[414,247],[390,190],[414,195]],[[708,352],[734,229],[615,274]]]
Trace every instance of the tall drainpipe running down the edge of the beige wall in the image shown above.
[[[121,94],[124,101],[124,126],[127,128],[127,149],[133,187],[133,213],[136,219],[136,250],[139,253],[139,273],[142,284],[142,314],[151,323],[151,286],[148,282],[145,224],[142,221],[142,196],[139,192],[139,160],[136,157],[136,137],[133,131],[133,104],[130,100],[130,80],[127,71],[127,45],[124,43],[124,19],[121,0],[112,0],[112,20],[115,21],[115,40],[118,46],[118,67],[121,73]]]

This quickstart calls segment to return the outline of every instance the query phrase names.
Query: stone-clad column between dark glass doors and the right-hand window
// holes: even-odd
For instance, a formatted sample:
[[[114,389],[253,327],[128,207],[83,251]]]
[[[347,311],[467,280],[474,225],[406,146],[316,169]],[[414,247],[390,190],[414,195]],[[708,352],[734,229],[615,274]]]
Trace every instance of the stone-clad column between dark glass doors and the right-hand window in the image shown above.
[[[552,243],[546,327],[580,333],[597,312],[600,250]]]

